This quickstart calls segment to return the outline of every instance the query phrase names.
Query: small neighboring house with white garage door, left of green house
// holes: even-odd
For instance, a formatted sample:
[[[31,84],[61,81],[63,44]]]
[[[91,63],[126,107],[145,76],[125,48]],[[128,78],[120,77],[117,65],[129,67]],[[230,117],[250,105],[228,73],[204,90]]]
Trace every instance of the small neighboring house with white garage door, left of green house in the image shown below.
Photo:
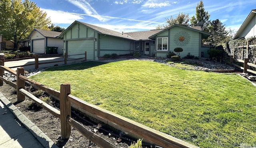
[[[58,47],[58,54],[62,54],[63,40],[57,38],[61,32],[33,29],[27,39],[30,40],[31,52],[46,54],[46,46]]]

